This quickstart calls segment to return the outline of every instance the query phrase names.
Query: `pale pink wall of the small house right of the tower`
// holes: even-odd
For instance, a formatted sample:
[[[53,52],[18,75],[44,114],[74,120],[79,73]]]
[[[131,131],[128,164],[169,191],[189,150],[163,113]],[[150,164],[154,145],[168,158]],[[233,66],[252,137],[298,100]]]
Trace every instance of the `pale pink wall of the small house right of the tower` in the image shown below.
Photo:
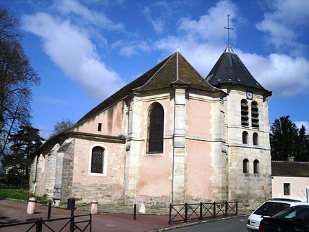
[[[290,196],[284,195],[284,183],[290,183]],[[293,198],[306,201],[309,177],[273,176],[271,184],[273,198]]]

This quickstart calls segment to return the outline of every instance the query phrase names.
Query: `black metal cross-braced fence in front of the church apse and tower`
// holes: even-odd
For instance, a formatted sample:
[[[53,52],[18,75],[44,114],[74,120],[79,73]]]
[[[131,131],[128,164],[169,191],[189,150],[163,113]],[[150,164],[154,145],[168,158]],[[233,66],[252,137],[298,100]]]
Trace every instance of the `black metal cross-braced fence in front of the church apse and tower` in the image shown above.
[[[168,224],[238,215],[238,202],[170,204]]]

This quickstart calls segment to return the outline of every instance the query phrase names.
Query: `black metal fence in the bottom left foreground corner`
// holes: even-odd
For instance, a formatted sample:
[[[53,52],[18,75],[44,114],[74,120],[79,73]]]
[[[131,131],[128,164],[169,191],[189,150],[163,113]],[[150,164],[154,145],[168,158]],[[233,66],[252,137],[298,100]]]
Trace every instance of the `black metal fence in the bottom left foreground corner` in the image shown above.
[[[83,220],[84,218],[88,218]],[[79,220],[76,220],[76,219]],[[60,223],[59,223],[60,222]],[[91,213],[83,215],[74,215],[74,210],[71,210],[71,216],[67,218],[43,219],[36,218],[29,222],[16,222],[0,224],[0,229],[5,227],[16,227],[16,231],[89,231],[91,232],[92,216]]]

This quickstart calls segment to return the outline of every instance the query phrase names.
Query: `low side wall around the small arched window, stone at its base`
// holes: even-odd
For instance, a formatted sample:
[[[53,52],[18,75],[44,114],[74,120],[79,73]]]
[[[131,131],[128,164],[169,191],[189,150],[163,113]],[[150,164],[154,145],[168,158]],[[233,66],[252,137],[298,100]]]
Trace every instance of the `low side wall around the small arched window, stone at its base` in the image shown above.
[[[106,149],[106,175],[90,174],[89,156],[93,146]],[[75,139],[71,195],[82,202],[95,199],[104,204],[121,204],[124,194],[124,154],[122,143]]]

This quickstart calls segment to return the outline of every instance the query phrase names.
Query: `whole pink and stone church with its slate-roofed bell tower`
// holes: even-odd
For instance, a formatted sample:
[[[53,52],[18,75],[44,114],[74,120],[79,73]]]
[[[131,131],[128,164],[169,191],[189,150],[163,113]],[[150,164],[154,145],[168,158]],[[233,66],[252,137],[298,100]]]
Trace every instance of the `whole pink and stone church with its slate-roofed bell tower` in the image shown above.
[[[207,78],[176,51],[38,148],[30,189],[63,202],[253,209],[271,198],[269,96],[231,46]]]

